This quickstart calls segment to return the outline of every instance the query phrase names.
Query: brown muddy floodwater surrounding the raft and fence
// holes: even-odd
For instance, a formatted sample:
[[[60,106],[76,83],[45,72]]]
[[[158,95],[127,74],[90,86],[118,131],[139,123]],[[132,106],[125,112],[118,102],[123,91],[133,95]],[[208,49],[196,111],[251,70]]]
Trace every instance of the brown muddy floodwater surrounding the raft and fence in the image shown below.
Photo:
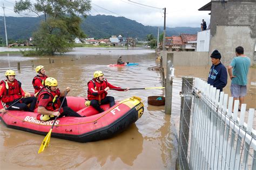
[[[123,61],[139,63],[130,67],[107,67]],[[70,87],[70,96],[87,97],[87,82],[93,72],[102,70],[111,84],[122,88],[161,87],[160,72],[147,68],[158,65],[149,49],[76,48],[66,55],[45,57],[0,56],[0,78],[6,69],[17,72],[25,91],[33,91],[31,81],[37,65],[45,66],[46,74],[58,80],[60,90]],[[21,70],[17,70],[17,62]],[[32,63],[35,67],[32,67]],[[138,96],[144,102],[144,114],[126,131],[113,138],[90,143],[51,138],[49,147],[37,154],[44,136],[6,128],[0,122],[0,169],[174,169],[177,159],[177,129],[180,115],[181,77],[197,76],[206,80],[207,67],[175,67],[172,115],[164,107],[147,104],[147,97],[164,96],[163,89],[111,91],[116,101]],[[255,108],[256,69],[250,69],[247,104]],[[230,82],[229,82],[230,83]],[[230,94],[230,84],[224,91]],[[248,108],[248,107],[247,107]]]

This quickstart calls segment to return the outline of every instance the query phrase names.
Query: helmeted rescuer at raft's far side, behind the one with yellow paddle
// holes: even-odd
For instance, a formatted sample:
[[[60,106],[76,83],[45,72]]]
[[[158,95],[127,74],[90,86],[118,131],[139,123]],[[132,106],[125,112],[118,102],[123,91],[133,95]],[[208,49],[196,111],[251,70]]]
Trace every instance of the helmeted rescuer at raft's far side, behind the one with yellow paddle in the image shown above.
[[[37,75],[33,78],[32,84],[35,89],[35,94],[44,87],[45,79],[47,79],[47,75],[45,75],[45,69],[44,66],[37,66],[36,67],[36,73]]]

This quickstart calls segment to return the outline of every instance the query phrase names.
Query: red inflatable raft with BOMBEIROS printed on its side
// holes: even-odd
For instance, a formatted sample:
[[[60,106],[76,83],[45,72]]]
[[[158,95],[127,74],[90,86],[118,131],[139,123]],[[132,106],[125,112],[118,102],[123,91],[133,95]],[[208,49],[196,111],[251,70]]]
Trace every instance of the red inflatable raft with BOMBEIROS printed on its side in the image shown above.
[[[112,108],[109,108],[108,104],[103,105],[105,111],[100,114],[91,106],[86,107],[83,97],[66,98],[70,108],[86,117],[58,118],[51,137],[82,143],[110,138],[127,129],[144,112],[144,105],[138,97],[117,102]],[[0,114],[0,118],[8,128],[46,135],[53,121],[38,121],[37,114],[37,112],[8,110],[5,114]]]

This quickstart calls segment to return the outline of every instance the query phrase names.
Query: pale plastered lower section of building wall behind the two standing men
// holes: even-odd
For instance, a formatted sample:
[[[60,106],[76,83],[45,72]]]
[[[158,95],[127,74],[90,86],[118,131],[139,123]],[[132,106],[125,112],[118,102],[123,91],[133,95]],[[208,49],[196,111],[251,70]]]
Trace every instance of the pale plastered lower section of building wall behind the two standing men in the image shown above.
[[[255,38],[251,38],[250,26],[217,26],[215,36],[211,36],[210,52],[218,49],[221,53],[221,62],[229,65],[235,56],[235,48],[244,47],[244,54],[251,59],[251,65],[255,64]],[[209,63],[211,64],[211,63]]]

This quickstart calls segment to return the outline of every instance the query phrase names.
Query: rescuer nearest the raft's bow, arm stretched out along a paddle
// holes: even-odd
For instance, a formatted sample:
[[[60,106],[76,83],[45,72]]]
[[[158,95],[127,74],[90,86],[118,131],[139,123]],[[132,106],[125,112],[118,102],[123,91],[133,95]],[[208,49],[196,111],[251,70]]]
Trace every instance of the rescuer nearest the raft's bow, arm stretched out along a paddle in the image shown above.
[[[90,105],[92,105],[93,108],[98,110],[99,112],[103,112],[104,110],[100,108],[101,104],[110,104],[110,107],[112,107],[114,103],[114,97],[112,96],[106,96],[107,90],[109,89],[115,89],[118,91],[127,91],[129,88],[122,89],[120,87],[113,86],[109,82],[107,82],[106,79],[104,79],[104,74],[102,71],[96,71],[94,74],[94,79],[89,81],[88,84],[88,90],[87,90],[87,97],[88,100],[90,100]]]

